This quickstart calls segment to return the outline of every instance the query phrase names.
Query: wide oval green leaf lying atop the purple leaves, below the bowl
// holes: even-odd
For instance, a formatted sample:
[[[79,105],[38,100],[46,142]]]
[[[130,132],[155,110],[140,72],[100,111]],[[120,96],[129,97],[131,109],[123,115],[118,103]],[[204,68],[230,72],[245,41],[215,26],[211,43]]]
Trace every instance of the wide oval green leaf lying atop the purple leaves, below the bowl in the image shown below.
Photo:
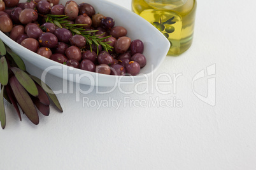
[[[18,69],[17,67],[10,68],[18,82],[29,92],[32,96],[38,96],[38,88],[34,81],[27,75],[24,71]]]

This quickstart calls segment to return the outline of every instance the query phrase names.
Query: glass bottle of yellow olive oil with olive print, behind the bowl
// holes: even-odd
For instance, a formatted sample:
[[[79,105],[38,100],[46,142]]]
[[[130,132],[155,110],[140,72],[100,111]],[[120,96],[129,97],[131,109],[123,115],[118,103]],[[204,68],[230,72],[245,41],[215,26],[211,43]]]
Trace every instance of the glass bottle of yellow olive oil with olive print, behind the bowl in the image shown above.
[[[196,5],[196,0],[132,0],[132,11],[167,37],[168,55],[178,56],[192,44]]]

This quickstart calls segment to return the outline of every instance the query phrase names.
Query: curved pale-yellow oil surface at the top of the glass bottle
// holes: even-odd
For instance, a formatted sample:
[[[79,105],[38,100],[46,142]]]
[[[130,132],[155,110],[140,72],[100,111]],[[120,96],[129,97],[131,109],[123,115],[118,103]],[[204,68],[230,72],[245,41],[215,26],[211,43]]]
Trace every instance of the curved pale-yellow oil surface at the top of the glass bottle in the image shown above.
[[[188,0],[144,0],[149,6],[157,10],[173,10],[187,3]]]

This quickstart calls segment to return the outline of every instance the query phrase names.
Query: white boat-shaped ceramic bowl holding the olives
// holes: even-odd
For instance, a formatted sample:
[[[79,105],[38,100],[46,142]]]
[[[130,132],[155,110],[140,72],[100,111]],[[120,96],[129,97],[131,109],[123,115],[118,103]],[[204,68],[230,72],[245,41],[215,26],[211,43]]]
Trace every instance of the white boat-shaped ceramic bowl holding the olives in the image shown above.
[[[25,2],[21,0],[20,3]],[[117,4],[103,0],[76,0],[76,3],[89,3],[94,6],[96,13],[104,16],[110,16],[115,20],[115,25],[122,25],[127,29],[127,36],[132,40],[141,39],[144,42],[143,55],[146,56],[146,66],[141,69],[139,75],[136,76],[115,76],[96,74],[95,72],[87,72],[85,70],[73,69],[66,65],[44,58],[29,49],[20,46],[17,42],[11,40],[8,36],[0,31],[0,38],[10,46],[11,50],[17,53],[25,62],[36,65],[39,69],[45,70],[43,74],[52,74],[68,81],[74,81],[80,84],[90,86],[117,86],[118,83],[134,81],[139,82],[150,76],[152,72],[159,68],[169,50],[170,43],[159,30],[146,20]],[[66,0],[60,0],[60,3],[66,4]],[[41,77],[43,78],[43,77]]]

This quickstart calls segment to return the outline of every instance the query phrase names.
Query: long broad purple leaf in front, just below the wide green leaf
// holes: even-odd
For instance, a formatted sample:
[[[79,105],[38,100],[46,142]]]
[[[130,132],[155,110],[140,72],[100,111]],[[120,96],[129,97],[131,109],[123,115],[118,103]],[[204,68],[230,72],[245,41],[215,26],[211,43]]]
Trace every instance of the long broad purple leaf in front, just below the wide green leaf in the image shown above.
[[[34,107],[34,103],[31,100],[31,97],[22,87],[20,82],[18,82],[18,79],[15,76],[10,78],[10,86],[13,90],[15,98],[18,101],[18,105],[20,105],[20,108],[22,108],[24,114],[27,115],[32,123],[38,124],[39,117],[38,112],[36,111],[36,107]]]

